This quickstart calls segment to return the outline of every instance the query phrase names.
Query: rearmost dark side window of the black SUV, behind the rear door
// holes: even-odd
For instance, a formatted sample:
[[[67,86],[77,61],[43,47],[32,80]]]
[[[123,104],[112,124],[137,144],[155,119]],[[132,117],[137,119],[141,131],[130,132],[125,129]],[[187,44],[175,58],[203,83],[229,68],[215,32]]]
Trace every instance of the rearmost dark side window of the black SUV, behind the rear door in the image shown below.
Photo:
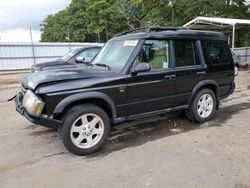
[[[205,45],[212,65],[223,65],[230,62],[224,42],[206,41]]]

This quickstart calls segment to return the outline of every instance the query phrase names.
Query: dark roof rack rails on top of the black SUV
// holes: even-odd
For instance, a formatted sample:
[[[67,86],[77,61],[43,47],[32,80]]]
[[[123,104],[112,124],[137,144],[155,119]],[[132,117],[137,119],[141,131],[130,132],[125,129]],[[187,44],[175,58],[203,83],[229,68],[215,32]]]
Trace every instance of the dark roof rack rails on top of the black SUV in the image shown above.
[[[160,32],[160,31],[189,30],[189,28],[185,28],[185,27],[166,27],[166,26],[164,26],[164,27],[162,27],[162,26],[139,27],[139,28],[128,30],[128,31],[124,31],[122,33],[118,33],[117,35],[115,35],[115,37],[126,35],[128,33],[132,33],[132,32],[135,32],[135,31],[140,31],[140,30],[145,30],[145,32],[149,33],[149,32]]]

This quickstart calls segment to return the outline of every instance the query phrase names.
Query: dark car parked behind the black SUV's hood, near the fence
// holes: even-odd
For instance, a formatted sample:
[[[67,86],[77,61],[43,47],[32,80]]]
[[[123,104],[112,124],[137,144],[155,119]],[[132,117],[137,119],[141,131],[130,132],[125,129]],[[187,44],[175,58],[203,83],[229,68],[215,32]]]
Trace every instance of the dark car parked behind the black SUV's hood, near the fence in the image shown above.
[[[92,61],[100,50],[101,46],[77,48],[55,61],[32,65],[31,72],[34,73],[51,69],[73,68],[78,65],[86,66]]]

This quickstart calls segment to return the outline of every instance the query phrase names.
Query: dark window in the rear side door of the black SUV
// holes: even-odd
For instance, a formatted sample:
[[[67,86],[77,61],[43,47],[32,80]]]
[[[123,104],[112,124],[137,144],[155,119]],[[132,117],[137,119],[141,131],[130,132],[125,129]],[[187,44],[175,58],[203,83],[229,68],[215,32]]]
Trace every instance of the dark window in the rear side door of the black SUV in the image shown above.
[[[195,41],[175,40],[174,51],[176,67],[195,66],[200,64]]]

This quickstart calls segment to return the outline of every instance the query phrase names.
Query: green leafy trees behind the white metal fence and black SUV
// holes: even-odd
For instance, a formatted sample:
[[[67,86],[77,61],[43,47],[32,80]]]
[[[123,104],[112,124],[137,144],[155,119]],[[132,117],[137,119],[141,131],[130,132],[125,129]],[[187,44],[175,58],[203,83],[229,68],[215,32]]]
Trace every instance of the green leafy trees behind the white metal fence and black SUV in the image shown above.
[[[180,26],[197,16],[250,19],[246,0],[72,0],[41,24],[42,41],[105,42],[124,30],[148,25]],[[250,44],[250,30],[237,45]]]

